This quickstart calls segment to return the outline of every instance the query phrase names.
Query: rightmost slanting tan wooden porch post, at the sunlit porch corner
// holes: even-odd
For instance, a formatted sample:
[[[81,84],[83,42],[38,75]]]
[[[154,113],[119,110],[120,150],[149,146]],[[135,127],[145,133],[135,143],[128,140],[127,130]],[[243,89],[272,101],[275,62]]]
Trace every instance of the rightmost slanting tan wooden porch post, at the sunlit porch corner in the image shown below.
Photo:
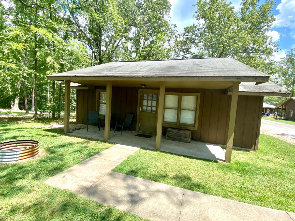
[[[230,119],[229,119],[229,123],[228,123],[226,151],[225,151],[225,162],[226,163],[230,163],[230,160],[232,158],[232,145],[234,142],[239,84],[240,84],[240,82],[234,82],[232,85],[232,98],[231,98],[231,102],[230,102]]]

